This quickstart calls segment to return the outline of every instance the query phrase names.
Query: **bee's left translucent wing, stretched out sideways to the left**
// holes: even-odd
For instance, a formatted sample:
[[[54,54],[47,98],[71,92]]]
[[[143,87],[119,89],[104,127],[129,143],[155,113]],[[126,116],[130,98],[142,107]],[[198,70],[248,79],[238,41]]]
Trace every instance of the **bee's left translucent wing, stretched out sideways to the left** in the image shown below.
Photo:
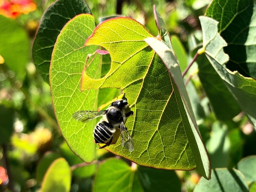
[[[106,114],[106,110],[105,111],[77,111],[72,115],[72,117],[77,121],[86,123],[88,121],[91,121],[105,114]]]

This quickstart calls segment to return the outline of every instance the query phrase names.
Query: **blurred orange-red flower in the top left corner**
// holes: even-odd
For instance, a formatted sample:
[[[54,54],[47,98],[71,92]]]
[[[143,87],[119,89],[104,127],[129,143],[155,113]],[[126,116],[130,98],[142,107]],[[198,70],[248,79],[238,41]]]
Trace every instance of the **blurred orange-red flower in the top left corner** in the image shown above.
[[[36,10],[36,4],[31,0],[0,0],[0,15],[17,18]]]

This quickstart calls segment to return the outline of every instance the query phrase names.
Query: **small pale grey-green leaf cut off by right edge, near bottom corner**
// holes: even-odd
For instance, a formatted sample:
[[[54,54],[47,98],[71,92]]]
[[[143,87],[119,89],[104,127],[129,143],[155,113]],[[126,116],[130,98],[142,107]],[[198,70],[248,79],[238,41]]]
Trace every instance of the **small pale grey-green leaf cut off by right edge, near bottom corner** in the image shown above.
[[[256,181],[256,155],[243,158],[237,164],[237,169],[244,174],[248,183]]]

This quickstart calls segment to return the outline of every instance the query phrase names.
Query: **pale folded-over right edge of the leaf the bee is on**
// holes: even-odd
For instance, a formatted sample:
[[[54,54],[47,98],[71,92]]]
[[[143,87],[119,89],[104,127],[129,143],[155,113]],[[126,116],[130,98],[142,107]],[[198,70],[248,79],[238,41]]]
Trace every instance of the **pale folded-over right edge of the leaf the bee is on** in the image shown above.
[[[188,142],[194,154],[198,172],[203,177],[210,179],[211,166],[209,157],[199,134],[196,118],[183,82],[178,61],[172,51],[156,38],[146,38],[145,41],[156,51],[169,71],[173,80],[172,87],[174,89],[175,99],[179,107]]]

